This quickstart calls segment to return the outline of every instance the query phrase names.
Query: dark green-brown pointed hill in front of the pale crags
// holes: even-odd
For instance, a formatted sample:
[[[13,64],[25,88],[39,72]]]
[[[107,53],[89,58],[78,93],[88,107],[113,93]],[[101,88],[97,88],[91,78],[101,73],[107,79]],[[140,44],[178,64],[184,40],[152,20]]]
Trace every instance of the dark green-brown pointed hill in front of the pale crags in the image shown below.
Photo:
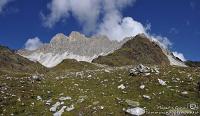
[[[120,49],[107,56],[99,56],[94,63],[109,66],[124,66],[132,64],[169,65],[169,60],[162,49],[148,38],[137,35],[127,41]]]

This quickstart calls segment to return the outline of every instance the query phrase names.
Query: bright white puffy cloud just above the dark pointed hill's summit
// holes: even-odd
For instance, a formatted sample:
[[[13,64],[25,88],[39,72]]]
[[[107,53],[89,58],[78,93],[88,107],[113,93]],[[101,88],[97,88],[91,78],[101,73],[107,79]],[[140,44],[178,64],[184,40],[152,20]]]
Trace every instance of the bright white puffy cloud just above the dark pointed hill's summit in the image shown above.
[[[131,17],[118,17],[113,15],[108,17],[104,23],[100,25],[98,34],[106,35],[111,40],[121,41],[125,37],[136,36],[140,33],[146,33],[145,27],[140,23],[132,19]]]

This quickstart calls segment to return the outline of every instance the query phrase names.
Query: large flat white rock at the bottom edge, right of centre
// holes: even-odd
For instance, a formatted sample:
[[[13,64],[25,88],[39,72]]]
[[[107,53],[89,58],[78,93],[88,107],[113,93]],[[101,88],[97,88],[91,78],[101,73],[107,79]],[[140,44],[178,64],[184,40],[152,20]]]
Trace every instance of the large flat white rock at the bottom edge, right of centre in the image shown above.
[[[140,107],[127,109],[126,112],[131,115],[136,115],[136,116],[141,116],[141,115],[145,114],[145,110]]]

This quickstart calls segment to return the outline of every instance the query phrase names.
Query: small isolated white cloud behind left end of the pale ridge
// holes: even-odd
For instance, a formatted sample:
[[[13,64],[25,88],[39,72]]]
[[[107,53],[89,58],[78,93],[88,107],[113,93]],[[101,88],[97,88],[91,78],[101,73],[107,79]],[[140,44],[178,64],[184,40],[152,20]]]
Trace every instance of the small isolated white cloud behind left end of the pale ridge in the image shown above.
[[[38,37],[28,39],[25,43],[26,50],[36,50],[37,48],[41,47],[43,43],[40,41]]]

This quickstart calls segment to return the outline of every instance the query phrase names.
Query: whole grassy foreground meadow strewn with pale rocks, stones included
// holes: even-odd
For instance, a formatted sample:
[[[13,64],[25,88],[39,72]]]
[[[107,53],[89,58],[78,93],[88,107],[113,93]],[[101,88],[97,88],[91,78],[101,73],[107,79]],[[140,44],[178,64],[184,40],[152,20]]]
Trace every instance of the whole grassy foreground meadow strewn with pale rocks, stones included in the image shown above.
[[[1,72],[0,114],[198,116],[199,80],[199,68],[172,66]]]

